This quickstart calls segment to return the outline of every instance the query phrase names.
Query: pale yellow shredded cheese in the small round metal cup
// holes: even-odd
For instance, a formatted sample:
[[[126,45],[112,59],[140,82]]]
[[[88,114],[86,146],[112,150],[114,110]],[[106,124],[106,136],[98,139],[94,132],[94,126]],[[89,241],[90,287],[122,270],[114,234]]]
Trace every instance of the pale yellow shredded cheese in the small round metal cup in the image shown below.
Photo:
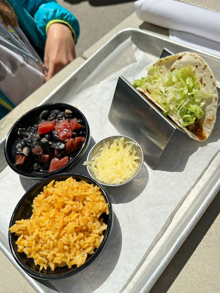
[[[106,184],[119,184],[128,181],[140,167],[133,142],[125,142],[124,137],[115,139],[112,144],[103,142],[99,152],[92,161],[83,165],[96,176],[97,180]]]

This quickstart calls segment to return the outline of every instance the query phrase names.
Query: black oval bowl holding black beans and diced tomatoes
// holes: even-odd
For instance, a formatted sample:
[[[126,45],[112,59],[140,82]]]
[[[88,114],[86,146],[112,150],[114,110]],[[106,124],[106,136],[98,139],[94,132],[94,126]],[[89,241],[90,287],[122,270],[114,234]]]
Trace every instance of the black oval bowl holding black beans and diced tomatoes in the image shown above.
[[[82,146],[80,147],[80,149],[77,151],[77,153],[73,153],[72,156],[69,155],[69,162],[53,171],[53,172],[45,172],[45,173],[29,173],[29,172],[25,172],[25,170],[22,169],[22,166],[16,165],[14,166],[14,162],[15,162],[15,158],[12,154],[12,147],[13,144],[16,142],[16,139],[18,139],[19,135],[17,134],[17,130],[18,128],[26,128],[28,126],[32,126],[35,123],[36,118],[40,115],[40,113],[43,110],[65,110],[65,109],[69,109],[73,112],[73,115],[77,118],[77,119],[82,119],[82,121],[84,122],[85,125],[85,141],[82,144]],[[9,131],[9,134],[6,138],[6,142],[5,142],[5,158],[7,163],[9,164],[9,166],[12,168],[13,171],[15,171],[16,173],[18,173],[19,175],[23,176],[23,177],[27,177],[27,178],[32,178],[32,179],[41,179],[41,178],[45,178],[48,176],[51,176],[53,174],[56,173],[61,173],[63,171],[66,171],[67,169],[69,169],[70,167],[72,167],[73,165],[75,165],[79,159],[82,157],[82,155],[86,152],[88,146],[89,146],[89,141],[90,141],[90,131],[89,131],[89,124],[86,120],[86,117],[82,114],[81,111],[79,111],[77,108],[68,105],[68,104],[64,104],[64,103],[50,103],[50,104],[45,104],[45,105],[41,105],[39,107],[36,107],[32,110],[30,110],[29,112],[27,112],[26,114],[24,114],[23,116],[21,116],[21,118],[19,118],[15,124],[11,127],[11,130]]]

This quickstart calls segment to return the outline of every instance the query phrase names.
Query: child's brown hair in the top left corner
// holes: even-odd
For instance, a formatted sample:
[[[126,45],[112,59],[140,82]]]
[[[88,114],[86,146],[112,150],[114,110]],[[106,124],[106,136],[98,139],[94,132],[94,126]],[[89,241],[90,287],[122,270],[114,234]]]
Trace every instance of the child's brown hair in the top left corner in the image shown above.
[[[18,25],[17,16],[11,5],[6,0],[0,0],[0,17],[6,25]]]

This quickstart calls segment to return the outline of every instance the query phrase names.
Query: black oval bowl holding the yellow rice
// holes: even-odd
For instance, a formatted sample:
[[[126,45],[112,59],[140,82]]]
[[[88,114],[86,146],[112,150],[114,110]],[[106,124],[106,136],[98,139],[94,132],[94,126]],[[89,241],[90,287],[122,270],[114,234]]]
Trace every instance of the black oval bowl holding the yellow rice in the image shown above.
[[[18,265],[30,276],[36,277],[39,279],[44,279],[44,280],[54,280],[54,279],[62,279],[62,278],[67,278],[71,277],[73,275],[77,275],[78,273],[82,272],[84,269],[88,268],[92,263],[94,263],[95,260],[99,257],[101,252],[103,251],[104,247],[106,246],[107,241],[109,240],[109,235],[111,234],[112,230],[112,225],[113,225],[113,212],[112,212],[112,206],[111,206],[111,201],[109,200],[109,197],[104,190],[104,188],[94,179],[78,174],[78,173],[62,173],[57,176],[50,176],[49,178],[46,178],[44,180],[41,180],[37,184],[35,184],[32,188],[30,188],[25,195],[21,198],[21,200],[18,202],[12,217],[10,221],[10,226],[15,224],[15,221],[21,220],[21,219],[28,219],[32,215],[32,207],[31,205],[33,204],[33,199],[36,197],[41,191],[43,191],[43,186],[47,185],[50,183],[51,180],[66,180],[70,176],[73,177],[73,179],[76,179],[77,181],[79,180],[84,180],[88,182],[89,184],[94,184],[99,186],[99,190],[101,191],[102,195],[105,198],[105,201],[109,205],[109,214],[102,214],[101,217],[103,217],[104,223],[107,223],[107,229],[105,230],[104,233],[104,239],[101,242],[99,248],[95,251],[94,254],[88,255],[87,260],[83,265],[80,267],[72,266],[71,269],[68,268],[68,266],[64,267],[57,267],[55,268],[54,271],[48,267],[47,270],[43,268],[41,272],[39,272],[40,265],[35,265],[34,260],[32,258],[28,258],[25,253],[20,253],[17,251],[17,245],[15,242],[18,239],[18,236],[15,236],[15,233],[10,233],[9,232],[9,245],[11,248],[11,252],[13,257],[15,258],[16,262]]]

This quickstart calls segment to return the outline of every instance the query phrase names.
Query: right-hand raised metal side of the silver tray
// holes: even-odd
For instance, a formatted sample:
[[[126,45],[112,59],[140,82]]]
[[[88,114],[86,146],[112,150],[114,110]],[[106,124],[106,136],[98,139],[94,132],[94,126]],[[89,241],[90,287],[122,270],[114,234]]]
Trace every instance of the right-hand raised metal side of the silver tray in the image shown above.
[[[216,172],[218,170],[218,172]],[[197,224],[220,190],[220,151],[179,207],[171,224],[159,239],[123,293],[147,293]],[[207,182],[212,186],[207,187]],[[189,208],[189,209],[188,209]],[[182,220],[184,219],[184,220]],[[189,220],[190,219],[190,220]],[[175,233],[178,236],[175,237]],[[168,245],[167,245],[167,239]],[[152,268],[153,264],[153,268]]]

